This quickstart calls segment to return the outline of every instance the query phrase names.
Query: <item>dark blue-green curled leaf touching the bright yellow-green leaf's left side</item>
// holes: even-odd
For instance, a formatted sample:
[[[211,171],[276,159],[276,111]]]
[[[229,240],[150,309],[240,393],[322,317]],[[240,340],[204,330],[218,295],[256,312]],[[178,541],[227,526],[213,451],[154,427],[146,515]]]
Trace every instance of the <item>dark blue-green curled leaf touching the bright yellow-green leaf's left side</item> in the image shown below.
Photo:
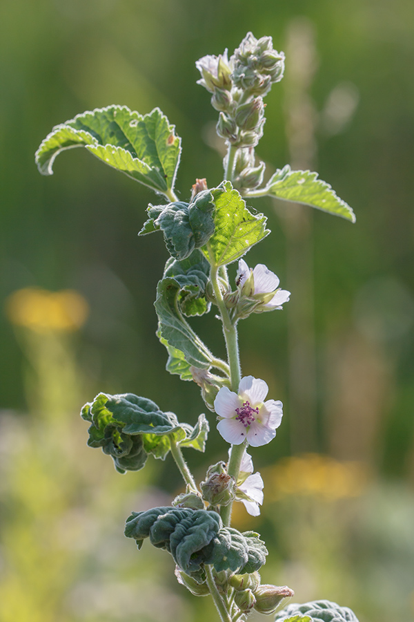
[[[214,196],[209,190],[199,192],[190,203],[150,204],[147,209],[149,218],[139,235],[161,230],[168,252],[181,261],[208,242],[215,228],[214,210]]]

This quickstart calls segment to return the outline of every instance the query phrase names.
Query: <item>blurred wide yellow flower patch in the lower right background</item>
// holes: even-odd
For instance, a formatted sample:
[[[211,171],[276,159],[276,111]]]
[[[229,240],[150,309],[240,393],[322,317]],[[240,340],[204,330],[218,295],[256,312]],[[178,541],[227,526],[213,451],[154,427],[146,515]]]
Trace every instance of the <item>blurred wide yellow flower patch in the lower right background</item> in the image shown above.
[[[357,497],[368,475],[360,462],[339,462],[317,453],[283,458],[262,470],[262,474],[265,498],[267,492],[275,500],[288,495],[319,496],[325,500]]]

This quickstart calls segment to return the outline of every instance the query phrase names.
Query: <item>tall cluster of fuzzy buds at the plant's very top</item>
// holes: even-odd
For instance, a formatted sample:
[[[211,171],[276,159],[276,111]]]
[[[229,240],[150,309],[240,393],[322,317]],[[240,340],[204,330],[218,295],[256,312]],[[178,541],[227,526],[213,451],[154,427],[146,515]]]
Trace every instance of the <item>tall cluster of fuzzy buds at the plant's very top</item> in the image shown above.
[[[263,162],[255,166],[254,153],[263,135],[263,97],[283,77],[284,53],[273,49],[272,37],[257,40],[249,32],[230,59],[226,50],[204,56],[196,66],[201,73],[197,84],[212,93],[211,104],[219,111],[217,133],[237,149],[231,181],[240,190],[257,188],[264,173]]]

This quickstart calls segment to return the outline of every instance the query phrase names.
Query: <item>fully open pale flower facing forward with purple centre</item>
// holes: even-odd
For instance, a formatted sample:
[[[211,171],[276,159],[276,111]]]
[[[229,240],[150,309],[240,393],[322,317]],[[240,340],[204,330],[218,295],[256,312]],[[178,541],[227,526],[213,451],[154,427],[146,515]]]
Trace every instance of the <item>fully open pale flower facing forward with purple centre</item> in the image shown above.
[[[217,430],[230,444],[247,441],[253,447],[266,445],[276,435],[282,422],[282,402],[268,399],[264,380],[246,376],[239,384],[239,393],[222,386],[216,395],[214,408],[221,418]]]

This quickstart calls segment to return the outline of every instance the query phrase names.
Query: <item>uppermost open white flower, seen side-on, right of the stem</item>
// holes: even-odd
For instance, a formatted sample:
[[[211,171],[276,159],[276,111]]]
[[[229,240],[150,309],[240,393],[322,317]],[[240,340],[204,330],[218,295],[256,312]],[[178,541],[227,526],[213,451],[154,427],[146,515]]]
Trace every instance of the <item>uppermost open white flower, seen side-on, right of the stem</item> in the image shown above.
[[[263,263],[258,263],[252,270],[244,259],[240,259],[236,283],[240,292],[245,296],[249,298],[254,296],[264,300],[260,305],[260,310],[282,309],[283,303],[287,302],[290,296],[290,292],[277,289],[279,287],[278,277]],[[273,294],[273,296],[263,294]]]

